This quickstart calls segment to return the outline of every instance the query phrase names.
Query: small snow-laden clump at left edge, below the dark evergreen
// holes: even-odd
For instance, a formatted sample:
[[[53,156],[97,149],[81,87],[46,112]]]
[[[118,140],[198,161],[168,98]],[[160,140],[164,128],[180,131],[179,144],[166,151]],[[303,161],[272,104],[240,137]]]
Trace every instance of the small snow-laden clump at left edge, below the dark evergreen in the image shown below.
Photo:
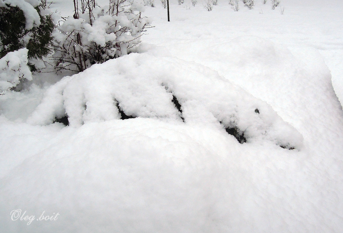
[[[7,53],[0,59],[0,94],[15,88],[25,78],[32,80],[31,71],[27,66],[27,49],[19,49]]]

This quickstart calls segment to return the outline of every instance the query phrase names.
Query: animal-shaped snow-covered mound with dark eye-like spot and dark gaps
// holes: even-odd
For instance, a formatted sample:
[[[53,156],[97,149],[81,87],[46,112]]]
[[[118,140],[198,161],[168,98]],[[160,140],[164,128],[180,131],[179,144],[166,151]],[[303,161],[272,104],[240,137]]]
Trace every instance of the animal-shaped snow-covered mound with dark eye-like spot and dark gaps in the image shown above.
[[[71,126],[144,117],[216,125],[240,142],[267,139],[300,148],[303,141],[270,105],[214,70],[148,54],[130,54],[64,77],[47,90],[28,122],[47,125],[65,116]]]

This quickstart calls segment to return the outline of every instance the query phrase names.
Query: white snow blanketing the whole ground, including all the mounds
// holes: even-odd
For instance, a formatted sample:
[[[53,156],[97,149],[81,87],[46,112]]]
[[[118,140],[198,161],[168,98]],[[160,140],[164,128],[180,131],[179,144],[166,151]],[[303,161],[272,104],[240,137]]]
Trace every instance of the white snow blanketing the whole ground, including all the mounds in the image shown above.
[[[341,232],[343,2],[240,4],[156,1],[139,54],[1,95],[1,232]]]

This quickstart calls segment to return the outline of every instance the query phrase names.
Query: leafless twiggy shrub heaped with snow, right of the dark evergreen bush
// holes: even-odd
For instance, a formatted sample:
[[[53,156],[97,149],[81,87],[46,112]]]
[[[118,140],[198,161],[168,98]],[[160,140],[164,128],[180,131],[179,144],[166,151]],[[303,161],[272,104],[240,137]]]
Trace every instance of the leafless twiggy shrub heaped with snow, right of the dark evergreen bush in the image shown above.
[[[81,1],[86,7],[75,7],[75,14],[54,34],[56,69],[82,72],[93,64],[128,54],[149,25],[141,15],[143,5],[133,0],[110,0],[104,7]]]

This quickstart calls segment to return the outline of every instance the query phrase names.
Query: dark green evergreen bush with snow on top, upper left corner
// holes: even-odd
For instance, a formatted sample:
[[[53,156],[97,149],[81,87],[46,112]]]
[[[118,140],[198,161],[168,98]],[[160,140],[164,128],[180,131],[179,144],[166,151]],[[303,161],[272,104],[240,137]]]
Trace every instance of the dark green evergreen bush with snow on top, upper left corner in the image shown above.
[[[28,49],[32,59],[43,59],[51,52],[55,25],[46,2],[39,0],[0,0],[0,58],[8,52]]]

